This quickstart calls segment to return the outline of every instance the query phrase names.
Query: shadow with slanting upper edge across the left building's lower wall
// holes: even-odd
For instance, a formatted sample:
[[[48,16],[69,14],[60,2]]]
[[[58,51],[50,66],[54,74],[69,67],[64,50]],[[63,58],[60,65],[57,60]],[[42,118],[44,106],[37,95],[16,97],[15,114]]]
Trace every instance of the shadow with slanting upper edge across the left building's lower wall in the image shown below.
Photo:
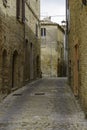
[[[24,37],[28,39],[27,46]],[[40,50],[37,50],[39,49],[38,38],[27,24],[17,21],[16,17],[5,16],[0,9],[0,92],[2,94],[8,94],[12,89],[15,90],[30,82],[31,42],[33,44],[33,79],[36,79],[35,76],[40,73],[38,70],[40,60],[37,58],[40,55]]]

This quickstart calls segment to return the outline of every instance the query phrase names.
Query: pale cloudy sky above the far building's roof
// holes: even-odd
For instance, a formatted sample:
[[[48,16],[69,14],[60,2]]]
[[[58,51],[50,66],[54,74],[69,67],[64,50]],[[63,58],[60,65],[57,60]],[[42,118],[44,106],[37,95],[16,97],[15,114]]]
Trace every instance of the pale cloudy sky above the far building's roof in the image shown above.
[[[53,22],[65,20],[65,0],[41,0],[41,19],[51,16]]]

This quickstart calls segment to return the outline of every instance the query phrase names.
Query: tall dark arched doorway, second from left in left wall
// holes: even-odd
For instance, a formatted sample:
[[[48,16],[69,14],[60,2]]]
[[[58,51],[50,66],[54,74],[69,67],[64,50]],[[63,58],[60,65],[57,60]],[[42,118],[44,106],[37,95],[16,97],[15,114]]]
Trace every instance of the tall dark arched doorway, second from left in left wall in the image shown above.
[[[12,88],[18,87],[18,52],[14,51],[12,56]]]

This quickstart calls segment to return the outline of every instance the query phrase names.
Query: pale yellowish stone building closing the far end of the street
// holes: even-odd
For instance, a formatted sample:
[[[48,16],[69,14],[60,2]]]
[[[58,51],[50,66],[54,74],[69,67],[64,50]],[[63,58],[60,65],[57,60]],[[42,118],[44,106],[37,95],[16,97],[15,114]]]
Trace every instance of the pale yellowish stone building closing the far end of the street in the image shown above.
[[[59,62],[64,54],[64,30],[57,23],[41,21],[41,70],[43,76],[59,76]],[[60,61],[59,61],[60,60]]]

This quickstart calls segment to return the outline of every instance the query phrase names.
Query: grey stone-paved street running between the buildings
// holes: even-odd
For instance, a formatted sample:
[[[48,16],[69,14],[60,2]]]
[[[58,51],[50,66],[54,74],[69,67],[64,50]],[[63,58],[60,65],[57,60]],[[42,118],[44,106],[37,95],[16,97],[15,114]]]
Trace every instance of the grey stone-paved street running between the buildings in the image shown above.
[[[10,94],[0,104],[0,130],[87,130],[65,78],[44,78]]]

